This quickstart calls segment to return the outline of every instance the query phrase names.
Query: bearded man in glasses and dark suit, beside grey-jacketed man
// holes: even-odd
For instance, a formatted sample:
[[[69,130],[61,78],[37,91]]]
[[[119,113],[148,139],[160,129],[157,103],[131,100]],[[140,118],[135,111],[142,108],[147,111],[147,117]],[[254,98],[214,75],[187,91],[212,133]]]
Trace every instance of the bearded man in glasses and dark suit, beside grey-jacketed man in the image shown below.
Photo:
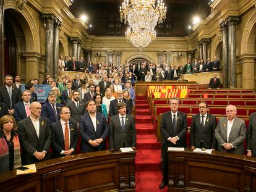
[[[199,102],[198,108],[199,113],[192,116],[190,125],[190,147],[215,150],[216,117],[208,113],[207,102]]]

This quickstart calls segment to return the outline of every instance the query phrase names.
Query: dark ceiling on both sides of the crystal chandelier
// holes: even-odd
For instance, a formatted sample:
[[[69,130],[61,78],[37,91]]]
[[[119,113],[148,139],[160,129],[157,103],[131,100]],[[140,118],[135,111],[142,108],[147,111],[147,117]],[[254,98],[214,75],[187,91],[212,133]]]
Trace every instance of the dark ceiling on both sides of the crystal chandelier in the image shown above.
[[[210,14],[210,0],[163,0],[166,20],[156,27],[156,36],[187,36],[194,15],[205,19]],[[120,22],[119,7],[124,0],[74,0],[70,11],[75,17],[88,16],[90,35],[124,36],[127,26]]]

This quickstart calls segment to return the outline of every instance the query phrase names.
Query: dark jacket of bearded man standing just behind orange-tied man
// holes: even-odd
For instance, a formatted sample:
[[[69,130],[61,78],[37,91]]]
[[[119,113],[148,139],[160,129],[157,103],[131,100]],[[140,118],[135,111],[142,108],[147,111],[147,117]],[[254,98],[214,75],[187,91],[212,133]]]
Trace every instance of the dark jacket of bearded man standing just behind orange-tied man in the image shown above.
[[[79,101],[79,109],[77,109],[77,106],[75,106],[74,101],[70,102],[67,106],[69,106],[71,112],[70,119],[75,123],[79,123],[79,118],[84,115],[85,112],[87,112],[85,109],[85,102]]]

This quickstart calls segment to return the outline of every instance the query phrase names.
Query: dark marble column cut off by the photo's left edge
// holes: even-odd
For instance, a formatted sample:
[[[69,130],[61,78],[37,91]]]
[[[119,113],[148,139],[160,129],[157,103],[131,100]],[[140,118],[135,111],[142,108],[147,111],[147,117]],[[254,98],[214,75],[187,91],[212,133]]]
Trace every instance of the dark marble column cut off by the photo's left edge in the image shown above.
[[[4,0],[0,0],[0,86],[4,85]]]

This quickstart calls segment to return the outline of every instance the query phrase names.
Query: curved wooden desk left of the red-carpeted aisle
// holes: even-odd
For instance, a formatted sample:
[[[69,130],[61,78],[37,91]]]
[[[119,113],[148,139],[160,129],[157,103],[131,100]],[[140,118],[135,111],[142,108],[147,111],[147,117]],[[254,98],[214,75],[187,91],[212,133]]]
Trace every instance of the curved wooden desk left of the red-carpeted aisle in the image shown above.
[[[99,151],[36,164],[36,173],[0,175],[0,191],[135,191],[136,152]]]

